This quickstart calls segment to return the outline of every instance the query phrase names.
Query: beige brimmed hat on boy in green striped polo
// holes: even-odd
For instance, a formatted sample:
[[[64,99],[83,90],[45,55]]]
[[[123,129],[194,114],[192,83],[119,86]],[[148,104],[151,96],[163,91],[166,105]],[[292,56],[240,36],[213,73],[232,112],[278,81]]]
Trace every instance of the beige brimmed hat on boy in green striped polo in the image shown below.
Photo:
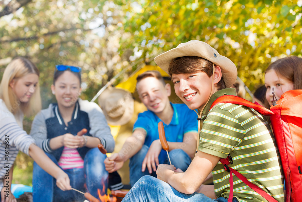
[[[179,44],[154,58],[156,65],[169,74],[169,65],[174,58],[183,56],[198,56],[213,62],[221,68],[226,88],[230,88],[237,78],[236,65],[227,57],[220,55],[214,48],[203,41],[188,41]]]

